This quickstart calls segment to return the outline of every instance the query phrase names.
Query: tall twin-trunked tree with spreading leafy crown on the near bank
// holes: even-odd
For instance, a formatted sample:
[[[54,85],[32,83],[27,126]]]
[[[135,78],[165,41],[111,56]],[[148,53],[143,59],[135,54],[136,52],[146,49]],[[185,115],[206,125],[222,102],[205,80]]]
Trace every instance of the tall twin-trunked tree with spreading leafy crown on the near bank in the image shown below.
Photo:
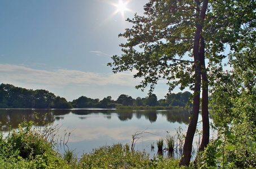
[[[143,78],[136,88],[154,90],[159,79],[167,79],[169,90],[180,85],[193,91],[192,117],[186,133],[180,164],[190,162],[202,91],[203,136],[199,150],[209,143],[207,72],[222,69],[225,45],[235,49],[242,26],[253,18],[254,1],[151,0],[145,15],[127,19],[133,26],[119,37],[121,56],[112,56],[114,73],[137,70],[134,78]],[[248,16],[246,16],[248,14]],[[250,14],[250,15],[249,15]],[[248,19],[249,18],[249,19]],[[206,67],[206,61],[208,68]],[[210,78],[214,82],[214,78]],[[212,84],[212,83],[210,83]]]

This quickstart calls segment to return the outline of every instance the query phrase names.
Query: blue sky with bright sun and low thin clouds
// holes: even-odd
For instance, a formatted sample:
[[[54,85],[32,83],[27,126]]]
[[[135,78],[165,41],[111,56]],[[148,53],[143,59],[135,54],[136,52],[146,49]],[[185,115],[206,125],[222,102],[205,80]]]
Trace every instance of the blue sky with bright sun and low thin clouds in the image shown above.
[[[146,97],[149,88],[134,88],[141,81],[134,72],[114,74],[107,66],[111,56],[122,54],[125,39],[118,34],[132,27],[125,19],[143,15],[148,2],[123,1],[122,12],[119,1],[1,0],[0,83],[44,89],[68,101]],[[163,99],[167,92],[163,80],[153,93]]]

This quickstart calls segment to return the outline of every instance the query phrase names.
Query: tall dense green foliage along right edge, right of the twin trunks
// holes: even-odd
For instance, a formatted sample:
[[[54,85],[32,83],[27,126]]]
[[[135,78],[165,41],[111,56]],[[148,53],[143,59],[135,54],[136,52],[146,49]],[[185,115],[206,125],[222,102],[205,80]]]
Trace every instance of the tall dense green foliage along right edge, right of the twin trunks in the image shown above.
[[[255,5],[255,2],[251,1],[247,4],[248,9],[246,10],[250,10],[251,7],[255,9]],[[229,126],[229,131],[232,134],[232,140],[230,140],[231,138],[227,141],[222,140],[222,144],[215,149],[225,148],[223,145],[232,146],[232,150],[224,151],[224,149],[221,153],[225,159],[222,161],[223,164],[228,162],[230,165],[232,164],[233,168],[256,166],[255,10],[246,15],[248,15],[246,19],[250,20],[251,17],[254,17],[254,20],[250,20],[244,25],[236,50],[229,54],[228,64],[233,69],[219,70],[215,84],[212,86],[215,127],[223,134],[223,128]],[[224,131],[224,134],[227,134],[226,132]],[[215,149],[213,146],[209,152],[216,153]]]

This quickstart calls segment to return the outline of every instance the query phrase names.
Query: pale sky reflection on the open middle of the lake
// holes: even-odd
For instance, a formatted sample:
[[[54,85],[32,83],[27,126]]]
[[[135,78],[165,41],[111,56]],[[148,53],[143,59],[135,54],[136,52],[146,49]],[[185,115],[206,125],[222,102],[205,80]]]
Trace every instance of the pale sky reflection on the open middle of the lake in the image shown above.
[[[63,117],[63,115],[62,115]],[[106,118],[108,115],[103,114],[87,114],[76,115],[66,114],[58,123],[62,124],[60,128],[60,136],[64,136],[64,130],[71,132],[68,146],[70,149],[76,149],[78,155],[84,152],[91,152],[94,148],[103,145],[112,145],[114,143],[129,144],[132,140],[132,135],[136,131],[148,132],[141,135],[141,139],[137,141],[136,148],[150,149],[151,143],[156,143],[160,138],[164,139],[169,135],[176,135],[175,128],[181,126],[186,131],[184,123],[170,123],[166,119],[166,115],[157,114],[157,120],[153,123],[146,119],[144,115],[140,119],[133,118],[127,121],[120,121],[117,113],[111,113],[111,118]],[[142,146],[140,148],[138,146]],[[156,146],[156,144],[155,144]]]

